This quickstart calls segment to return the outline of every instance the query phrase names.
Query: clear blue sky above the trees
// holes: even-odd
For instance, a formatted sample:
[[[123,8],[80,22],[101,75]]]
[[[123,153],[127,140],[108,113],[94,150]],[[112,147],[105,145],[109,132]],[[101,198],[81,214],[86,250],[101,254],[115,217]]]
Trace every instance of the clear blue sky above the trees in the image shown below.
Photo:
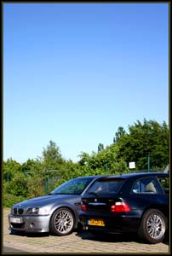
[[[169,124],[169,3],[3,3],[3,160]]]

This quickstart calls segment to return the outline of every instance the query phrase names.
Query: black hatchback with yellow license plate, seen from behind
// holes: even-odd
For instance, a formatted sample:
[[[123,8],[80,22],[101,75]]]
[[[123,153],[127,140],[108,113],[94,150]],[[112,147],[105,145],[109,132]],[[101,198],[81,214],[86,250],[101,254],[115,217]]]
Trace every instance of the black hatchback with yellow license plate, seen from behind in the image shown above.
[[[95,235],[135,232],[141,240],[158,243],[168,230],[168,173],[100,177],[81,200],[80,221]]]

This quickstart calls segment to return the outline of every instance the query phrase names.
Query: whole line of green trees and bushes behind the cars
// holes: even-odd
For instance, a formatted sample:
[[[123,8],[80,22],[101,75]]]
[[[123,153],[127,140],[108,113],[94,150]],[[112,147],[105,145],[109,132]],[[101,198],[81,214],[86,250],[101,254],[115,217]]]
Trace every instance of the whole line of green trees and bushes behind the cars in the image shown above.
[[[148,160],[151,172],[163,172],[169,164],[169,127],[165,121],[161,125],[155,120],[137,120],[129,131],[118,127],[112,144],[104,147],[100,143],[97,152],[81,152],[78,158],[77,163],[65,160],[50,140],[41,157],[23,164],[12,158],[3,161],[3,207],[46,195],[73,177],[147,172]],[[135,169],[129,169],[129,162],[135,162]]]

